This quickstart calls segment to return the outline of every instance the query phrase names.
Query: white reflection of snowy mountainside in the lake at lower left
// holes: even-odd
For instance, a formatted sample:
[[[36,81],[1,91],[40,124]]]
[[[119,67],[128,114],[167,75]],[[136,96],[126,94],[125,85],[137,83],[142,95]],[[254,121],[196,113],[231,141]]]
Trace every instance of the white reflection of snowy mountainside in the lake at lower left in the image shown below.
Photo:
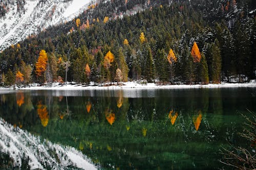
[[[15,166],[21,166],[23,154],[29,157],[31,169],[52,169],[74,166],[83,169],[96,169],[81,152],[71,147],[63,147],[48,140],[42,141],[29,132],[14,128],[0,118],[0,152],[8,153]]]

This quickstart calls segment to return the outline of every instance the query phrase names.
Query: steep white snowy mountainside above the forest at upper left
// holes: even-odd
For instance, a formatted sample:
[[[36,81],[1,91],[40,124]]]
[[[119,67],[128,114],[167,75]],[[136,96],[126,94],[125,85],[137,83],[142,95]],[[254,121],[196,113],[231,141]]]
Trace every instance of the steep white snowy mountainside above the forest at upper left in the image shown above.
[[[5,16],[0,17],[0,51],[49,26],[73,19],[90,3],[90,0],[26,0],[20,12],[15,1],[18,0],[5,6]]]

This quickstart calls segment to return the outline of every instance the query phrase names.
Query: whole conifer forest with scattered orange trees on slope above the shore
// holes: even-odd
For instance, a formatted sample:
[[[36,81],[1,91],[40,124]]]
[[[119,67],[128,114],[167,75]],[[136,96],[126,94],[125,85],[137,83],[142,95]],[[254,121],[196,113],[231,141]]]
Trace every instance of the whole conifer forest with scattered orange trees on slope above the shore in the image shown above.
[[[255,8],[254,0],[92,3],[2,51],[1,85],[247,82],[256,74]]]

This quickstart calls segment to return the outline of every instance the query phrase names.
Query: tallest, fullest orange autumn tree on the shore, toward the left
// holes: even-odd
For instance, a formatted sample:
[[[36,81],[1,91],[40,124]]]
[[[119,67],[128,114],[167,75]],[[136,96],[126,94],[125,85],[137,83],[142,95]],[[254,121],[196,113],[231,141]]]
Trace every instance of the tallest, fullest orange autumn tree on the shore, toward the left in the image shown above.
[[[45,82],[45,71],[47,67],[48,57],[45,50],[41,50],[35,64],[35,74],[40,83]]]

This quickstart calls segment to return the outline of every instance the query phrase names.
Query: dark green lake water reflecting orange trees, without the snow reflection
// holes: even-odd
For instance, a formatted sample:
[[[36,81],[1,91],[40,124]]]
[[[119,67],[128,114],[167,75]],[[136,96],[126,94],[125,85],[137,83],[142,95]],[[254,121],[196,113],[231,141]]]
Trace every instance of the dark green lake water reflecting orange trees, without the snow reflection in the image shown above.
[[[100,169],[217,169],[245,144],[256,88],[1,91],[13,126],[81,150]]]

